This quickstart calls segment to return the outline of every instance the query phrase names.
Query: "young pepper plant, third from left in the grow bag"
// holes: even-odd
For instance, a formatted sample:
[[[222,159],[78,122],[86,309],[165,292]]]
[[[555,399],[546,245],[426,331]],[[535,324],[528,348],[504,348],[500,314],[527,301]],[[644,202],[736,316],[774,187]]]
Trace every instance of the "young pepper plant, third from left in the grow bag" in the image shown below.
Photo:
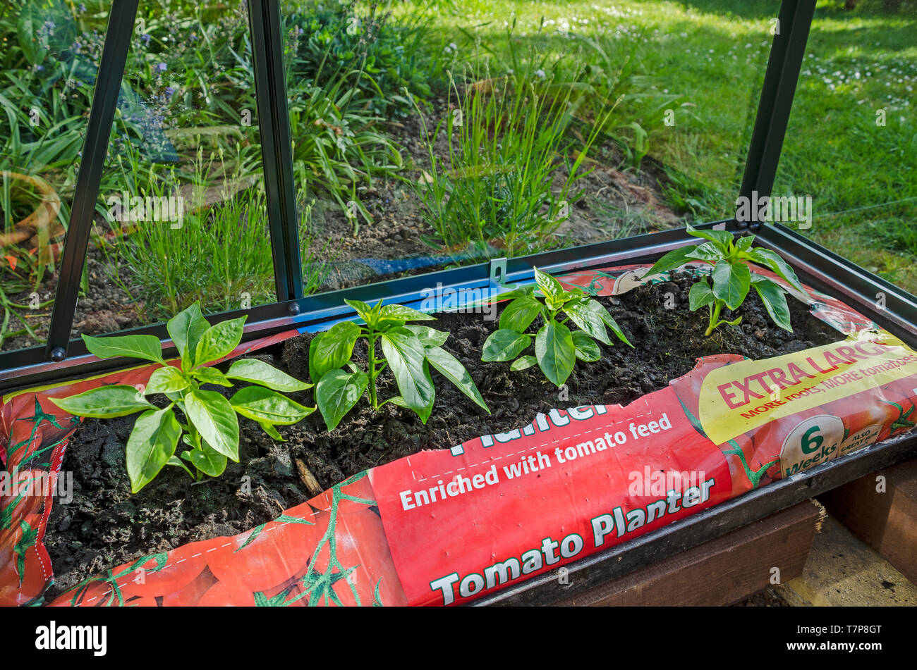
[[[525,330],[539,316],[544,325],[535,336],[535,355],[520,356],[513,361],[510,369],[525,370],[537,363],[548,381],[558,387],[573,373],[577,359],[593,362],[602,358],[595,340],[612,345],[606,326],[619,340],[634,346],[608,310],[581,288],[568,291],[557,279],[538,268],[535,268],[535,281],[539,289],[537,294],[536,287],[530,285],[502,296],[512,297],[513,301],[503,308],[500,330],[494,330],[484,342],[481,361],[513,361],[532,343],[532,336],[525,334]],[[544,303],[538,300],[539,297]],[[564,317],[558,320],[561,312]],[[566,325],[568,321],[577,330],[570,330]]]

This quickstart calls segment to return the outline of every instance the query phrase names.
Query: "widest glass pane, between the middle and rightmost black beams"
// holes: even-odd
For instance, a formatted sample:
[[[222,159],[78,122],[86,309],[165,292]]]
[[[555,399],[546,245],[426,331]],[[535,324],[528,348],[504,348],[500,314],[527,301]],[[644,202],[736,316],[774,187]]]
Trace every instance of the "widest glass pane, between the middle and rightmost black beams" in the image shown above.
[[[282,8],[326,290],[731,216],[779,1]]]

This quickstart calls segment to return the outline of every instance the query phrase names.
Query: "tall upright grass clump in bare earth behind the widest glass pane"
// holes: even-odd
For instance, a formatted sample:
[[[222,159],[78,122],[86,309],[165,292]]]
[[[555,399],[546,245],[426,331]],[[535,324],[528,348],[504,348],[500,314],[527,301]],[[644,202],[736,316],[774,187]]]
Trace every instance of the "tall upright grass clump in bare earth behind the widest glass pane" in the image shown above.
[[[552,233],[582,197],[577,181],[589,172],[584,161],[613,108],[600,106],[597,123],[580,133],[581,72],[555,79],[532,50],[518,52],[513,27],[507,39],[514,67],[494,76],[484,60],[461,85],[452,82],[447,113],[432,135],[423,124],[430,169],[412,183],[435,231],[426,242],[457,258],[555,245]],[[436,156],[440,134],[446,160]]]

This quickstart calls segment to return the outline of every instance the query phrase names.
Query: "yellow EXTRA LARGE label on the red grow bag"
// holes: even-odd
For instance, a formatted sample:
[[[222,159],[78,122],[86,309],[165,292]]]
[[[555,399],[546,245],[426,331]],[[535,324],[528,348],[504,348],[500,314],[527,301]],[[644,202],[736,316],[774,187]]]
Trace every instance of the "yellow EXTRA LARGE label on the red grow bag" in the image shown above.
[[[885,330],[713,370],[703,380],[701,426],[724,444],[768,421],[917,375],[917,353]]]

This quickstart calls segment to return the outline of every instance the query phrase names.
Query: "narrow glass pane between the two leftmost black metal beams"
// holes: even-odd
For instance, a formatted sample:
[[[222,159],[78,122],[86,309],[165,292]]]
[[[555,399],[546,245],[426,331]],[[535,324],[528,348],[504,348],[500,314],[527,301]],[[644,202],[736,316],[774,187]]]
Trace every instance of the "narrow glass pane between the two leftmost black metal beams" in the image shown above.
[[[246,7],[140,3],[73,337],[276,299]]]

